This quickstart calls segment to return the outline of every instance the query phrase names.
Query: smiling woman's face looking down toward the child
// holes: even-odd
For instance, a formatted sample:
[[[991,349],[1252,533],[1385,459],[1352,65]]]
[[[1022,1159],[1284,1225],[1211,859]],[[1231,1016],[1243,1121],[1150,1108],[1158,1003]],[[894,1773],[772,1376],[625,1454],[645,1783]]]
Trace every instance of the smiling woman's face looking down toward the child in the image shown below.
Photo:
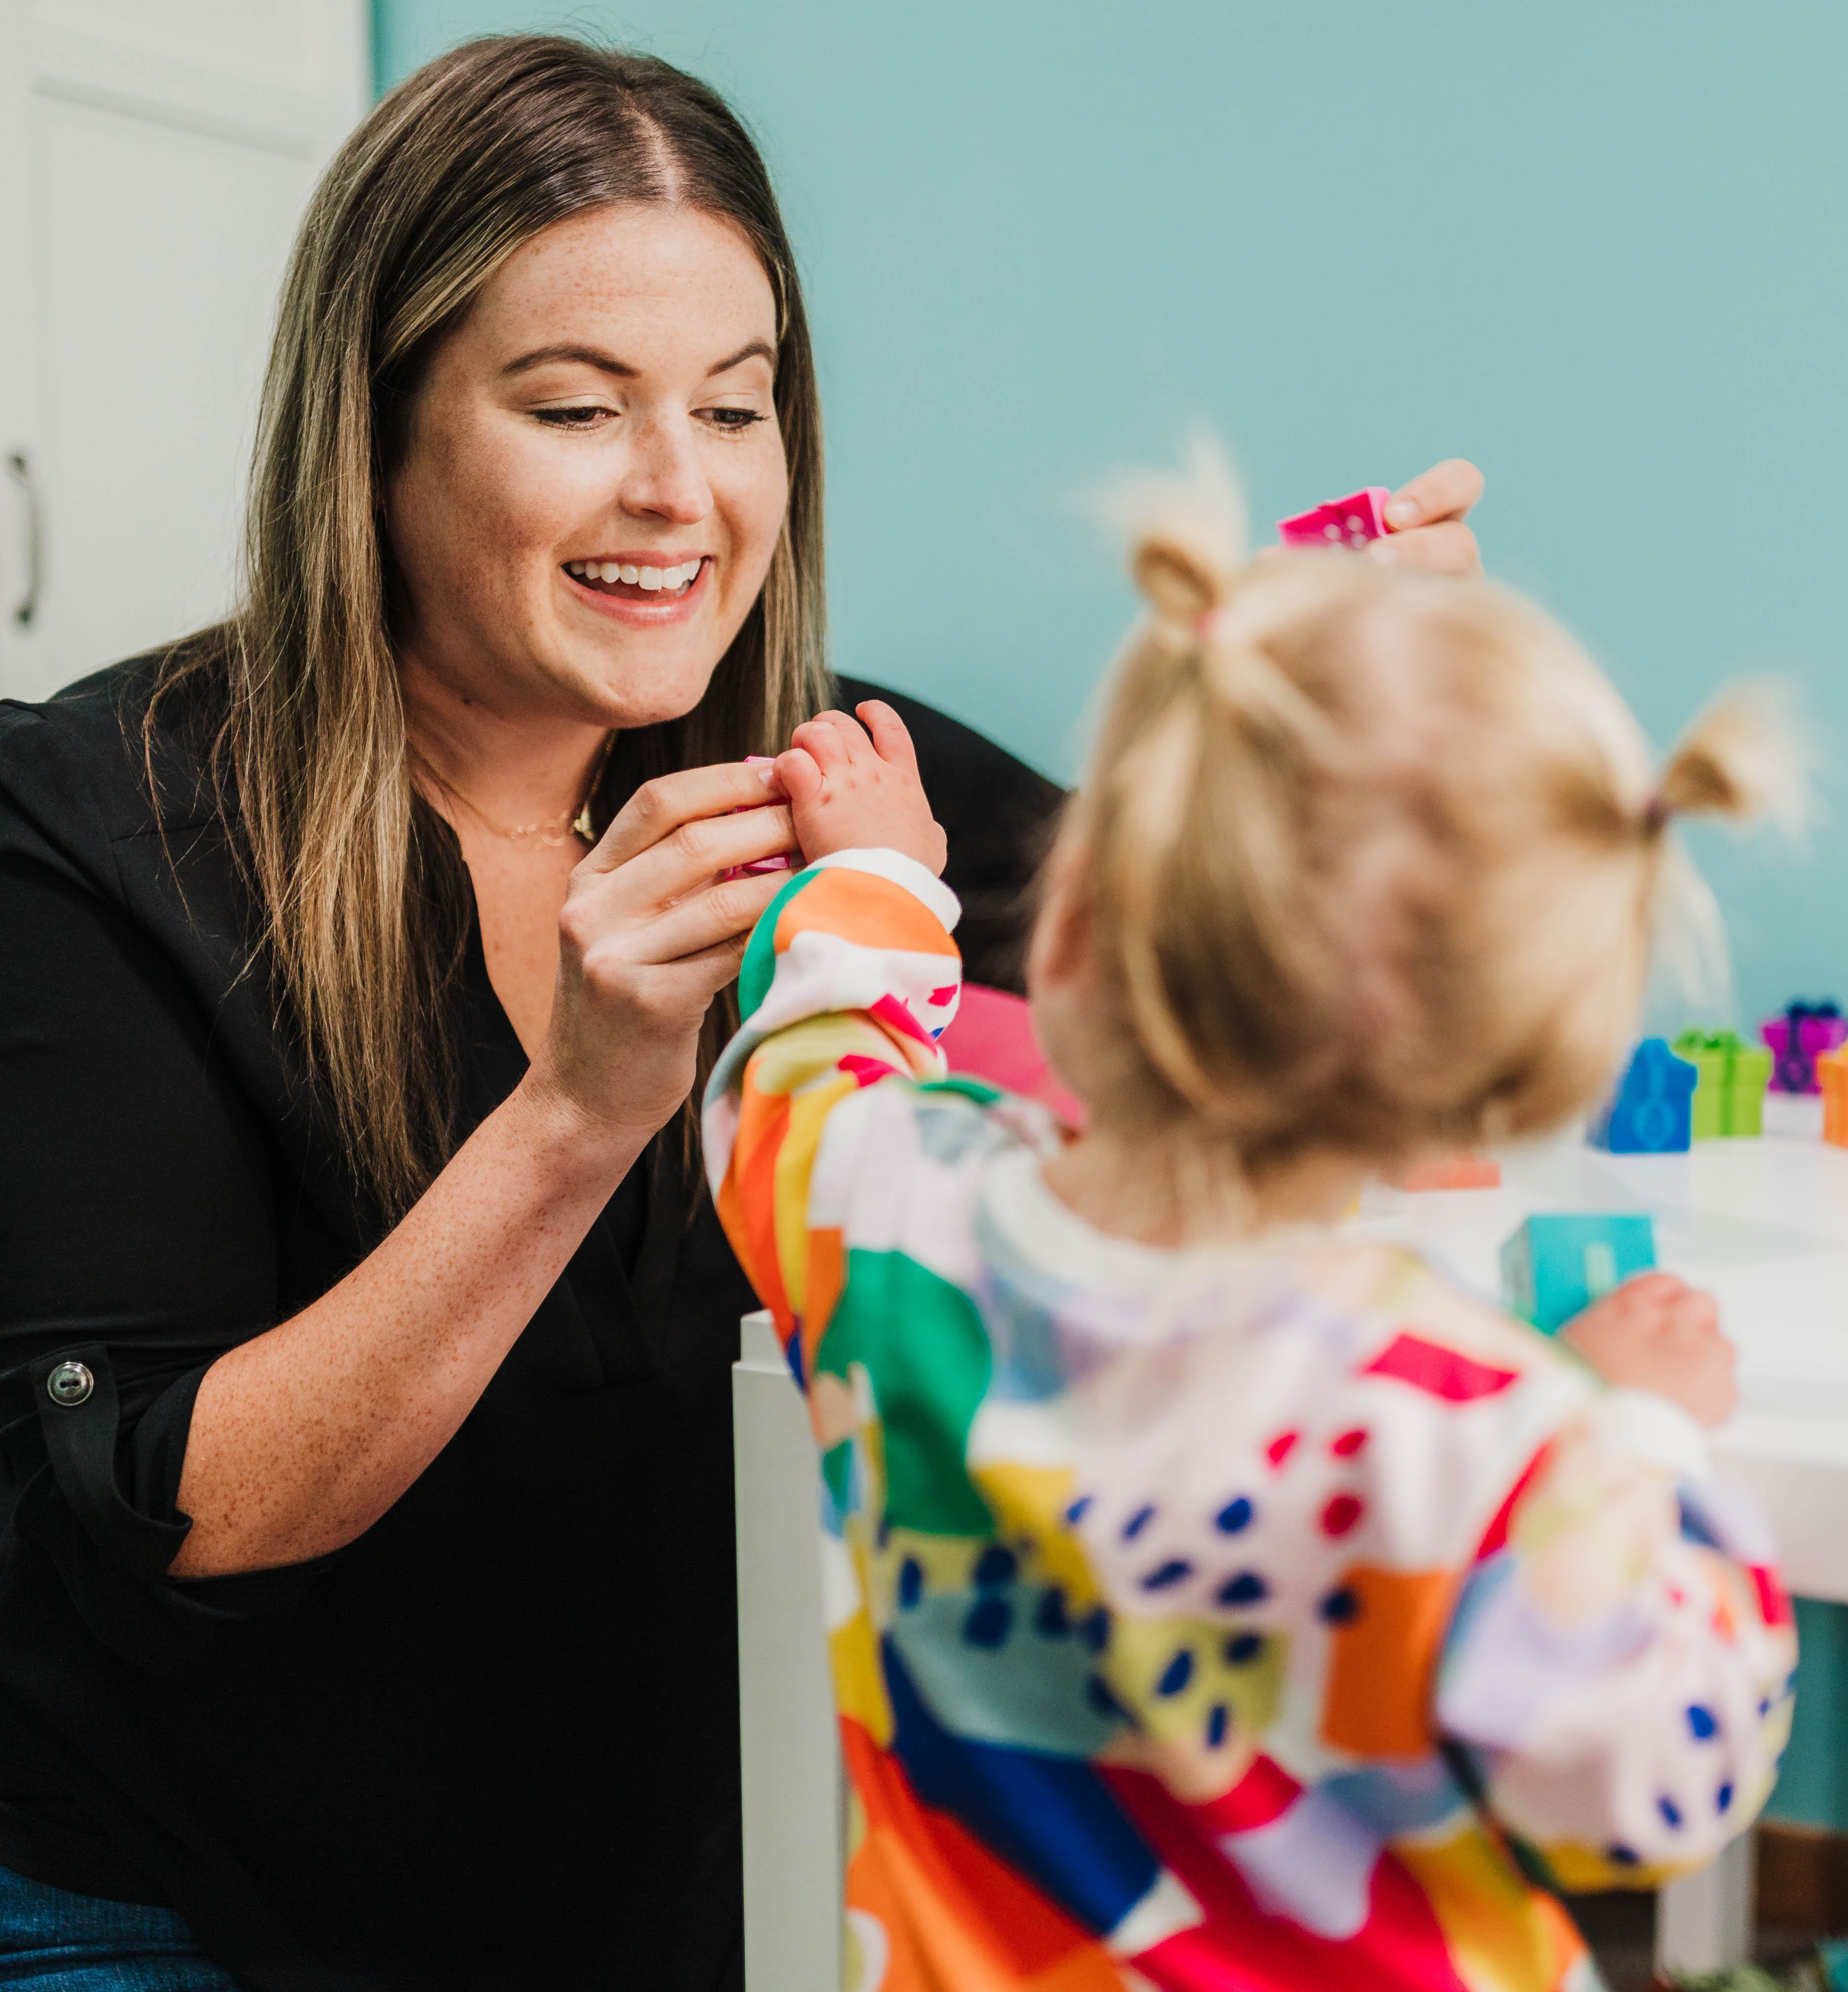
[[[691,711],[789,502],[775,345],[717,215],[623,203],[526,243],[432,357],[388,482],[404,657],[512,721]]]

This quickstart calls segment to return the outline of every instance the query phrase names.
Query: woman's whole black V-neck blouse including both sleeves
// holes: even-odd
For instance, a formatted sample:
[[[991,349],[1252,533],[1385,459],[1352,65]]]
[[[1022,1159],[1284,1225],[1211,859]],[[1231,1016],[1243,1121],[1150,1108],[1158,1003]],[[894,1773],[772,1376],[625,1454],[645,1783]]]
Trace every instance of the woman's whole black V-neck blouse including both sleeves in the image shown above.
[[[165,1574],[205,1369],[382,1227],[291,1076],[179,733],[153,823],[147,683],[141,659],[0,703],[0,1865],[171,1904],[275,1992],[737,1988],[729,1369],[755,1303],[677,1127],[364,1536]],[[1018,986],[1057,791],[884,697],[968,972]],[[611,809],[633,781],[617,751]],[[456,1004],[466,1131],[526,1066],[478,932]]]

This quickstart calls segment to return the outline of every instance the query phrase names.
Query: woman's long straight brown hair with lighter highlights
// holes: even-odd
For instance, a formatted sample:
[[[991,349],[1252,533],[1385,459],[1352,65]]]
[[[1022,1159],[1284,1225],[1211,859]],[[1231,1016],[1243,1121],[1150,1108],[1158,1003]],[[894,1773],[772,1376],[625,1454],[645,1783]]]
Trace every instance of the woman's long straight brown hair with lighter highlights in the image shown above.
[[[390,639],[384,488],[436,345],[542,229],[679,201],[745,231],[777,295],[789,514],[701,703],[645,729],[643,771],[775,753],[826,703],[814,359],[769,173],[697,78],[564,36],[468,42],[398,84],[329,165],[295,243],[263,382],[237,614],[167,661],[149,705],[207,691],[221,793],[279,998],[386,1213],[448,1153],[446,988],[460,857],[416,795]],[[701,1072],[725,1028],[707,1018]]]

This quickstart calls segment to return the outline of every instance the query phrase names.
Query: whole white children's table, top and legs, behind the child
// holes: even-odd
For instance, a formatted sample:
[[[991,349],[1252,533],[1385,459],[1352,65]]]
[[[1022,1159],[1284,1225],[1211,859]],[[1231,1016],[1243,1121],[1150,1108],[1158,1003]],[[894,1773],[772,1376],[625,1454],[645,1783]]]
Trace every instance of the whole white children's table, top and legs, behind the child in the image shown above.
[[[1742,1408],[1727,1472],[1778,1534],[1784,1576],[1848,1602],[1848,1149],[1814,1137],[1820,1102],[1766,1102],[1758,1141],[1605,1155],[1577,1141],[1502,1153],[1500,1189],[1370,1189],[1352,1229],[1404,1239],[1500,1295],[1502,1241],[1535,1211],[1649,1211],[1657,1257],[1719,1295]],[[767,1315],[733,1374],[749,1992],[814,1992],[838,1972],[840,1769],[826,1679],[814,1450]],[[1746,1954],[1750,1843],[1665,1888],[1657,1960]]]

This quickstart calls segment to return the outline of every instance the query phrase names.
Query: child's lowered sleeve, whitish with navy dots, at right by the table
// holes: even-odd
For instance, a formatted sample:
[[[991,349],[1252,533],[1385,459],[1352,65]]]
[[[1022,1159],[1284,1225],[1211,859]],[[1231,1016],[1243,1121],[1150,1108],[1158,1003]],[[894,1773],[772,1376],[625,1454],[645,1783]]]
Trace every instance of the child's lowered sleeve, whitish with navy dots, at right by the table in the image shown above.
[[[1478,1554],[1438,1683],[1490,1811],[1567,1888],[1699,1867],[1762,1807],[1796,1639],[1758,1518],[1675,1404],[1613,1390]]]

